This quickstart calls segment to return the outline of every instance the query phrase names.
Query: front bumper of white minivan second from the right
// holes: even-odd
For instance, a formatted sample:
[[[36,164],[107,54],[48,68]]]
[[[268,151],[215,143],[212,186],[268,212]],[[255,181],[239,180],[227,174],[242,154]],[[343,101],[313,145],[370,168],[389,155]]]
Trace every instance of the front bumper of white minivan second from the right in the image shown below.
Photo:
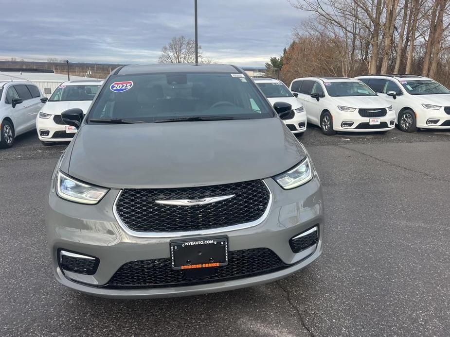
[[[334,111],[333,116],[333,129],[335,131],[341,132],[377,132],[377,131],[388,131],[395,127],[396,113],[395,111],[387,111],[386,116],[375,117],[380,119],[380,127],[376,125],[369,125],[370,119],[367,117],[361,117],[358,111],[355,112],[344,112],[344,111]],[[342,126],[342,123],[353,123],[349,127]],[[383,123],[384,127],[382,126]]]

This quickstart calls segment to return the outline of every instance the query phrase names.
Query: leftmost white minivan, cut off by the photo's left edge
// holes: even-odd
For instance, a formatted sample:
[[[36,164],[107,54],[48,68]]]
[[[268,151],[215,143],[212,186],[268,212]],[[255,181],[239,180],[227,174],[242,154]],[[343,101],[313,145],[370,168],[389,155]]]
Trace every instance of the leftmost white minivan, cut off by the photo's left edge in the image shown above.
[[[10,148],[16,136],[36,128],[41,97],[30,82],[0,82],[0,148]]]

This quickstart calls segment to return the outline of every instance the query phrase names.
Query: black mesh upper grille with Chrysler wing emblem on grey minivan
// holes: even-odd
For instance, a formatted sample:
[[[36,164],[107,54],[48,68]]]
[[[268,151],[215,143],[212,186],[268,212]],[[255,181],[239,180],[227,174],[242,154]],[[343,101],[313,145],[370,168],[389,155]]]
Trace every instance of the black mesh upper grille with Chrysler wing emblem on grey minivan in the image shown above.
[[[201,200],[233,195],[210,204],[189,206],[156,203],[157,200]],[[262,180],[188,188],[124,189],[117,214],[137,232],[184,232],[252,222],[262,217],[270,193]]]

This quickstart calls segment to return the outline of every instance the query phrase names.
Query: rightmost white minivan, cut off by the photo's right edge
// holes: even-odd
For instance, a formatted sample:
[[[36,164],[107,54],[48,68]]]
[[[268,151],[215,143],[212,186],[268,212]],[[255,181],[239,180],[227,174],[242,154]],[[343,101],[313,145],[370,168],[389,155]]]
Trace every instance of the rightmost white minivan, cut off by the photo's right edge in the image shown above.
[[[378,92],[388,104],[392,104],[401,131],[450,128],[450,90],[431,78],[418,75],[370,75],[357,79]]]

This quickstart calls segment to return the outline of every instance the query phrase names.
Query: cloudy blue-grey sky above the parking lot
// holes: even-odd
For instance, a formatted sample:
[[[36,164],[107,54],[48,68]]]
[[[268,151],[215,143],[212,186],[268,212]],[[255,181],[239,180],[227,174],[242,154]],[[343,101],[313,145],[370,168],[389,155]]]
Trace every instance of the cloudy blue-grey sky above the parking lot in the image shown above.
[[[154,63],[173,36],[194,38],[194,0],[0,0],[0,8],[0,60]],[[217,62],[263,66],[305,17],[288,0],[198,0],[198,40]]]

